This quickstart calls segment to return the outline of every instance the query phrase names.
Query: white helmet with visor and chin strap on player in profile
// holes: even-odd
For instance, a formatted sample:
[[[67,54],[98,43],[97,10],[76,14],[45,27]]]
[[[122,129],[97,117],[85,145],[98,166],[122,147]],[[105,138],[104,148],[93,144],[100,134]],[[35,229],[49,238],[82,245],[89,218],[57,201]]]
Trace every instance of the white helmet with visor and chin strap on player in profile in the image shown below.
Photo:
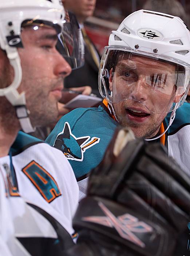
[[[76,27],[75,34],[74,30],[71,30],[71,21],[64,18],[65,11],[59,0],[0,1],[0,48],[5,50],[15,74],[12,84],[0,89],[0,96],[5,96],[15,106],[21,128],[25,132],[32,132],[34,129],[29,120],[25,93],[19,94],[17,91],[22,80],[20,57],[17,51],[17,48],[23,47],[21,31],[28,25],[32,25],[34,30],[41,29],[43,26],[53,27],[59,38],[57,50],[64,57],[70,58],[70,64],[74,64],[72,68],[76,68],[78,64],[82,65],[83,63],[83,45],[80,45],[79,42],[79,45],[76,46],[77,40],[74,36],[77,35],[77,39],[82,41],[82,35],[81,33],[77,34],[80,32],[78,27]]]

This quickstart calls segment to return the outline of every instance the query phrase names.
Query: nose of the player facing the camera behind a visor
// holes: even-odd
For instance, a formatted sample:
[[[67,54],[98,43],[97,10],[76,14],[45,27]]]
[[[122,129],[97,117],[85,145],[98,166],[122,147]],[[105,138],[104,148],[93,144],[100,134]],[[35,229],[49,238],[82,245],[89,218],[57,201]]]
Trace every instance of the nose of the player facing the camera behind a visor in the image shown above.
[[[129,98],[143,102],[146,101],[148,95],[149,92],[148,86],[146,85],[145,76],[140,75],[138,77],[138,81],[130,87]]]

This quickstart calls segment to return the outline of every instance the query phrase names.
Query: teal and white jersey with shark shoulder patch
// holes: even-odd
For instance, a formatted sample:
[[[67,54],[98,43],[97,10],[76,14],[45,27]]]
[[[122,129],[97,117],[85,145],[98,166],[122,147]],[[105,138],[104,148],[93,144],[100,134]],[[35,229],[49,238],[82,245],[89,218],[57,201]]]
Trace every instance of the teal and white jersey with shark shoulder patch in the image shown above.
[[[170,114],[163,121],[165,129]],[[45,142],[60,149],[70,161],[80,198],[85,194],[87,174],[102,160],[118,125],[104,105],[78,108],[63,116],[46,139]],[[174,122],[166,132],[165,146],[169,155],[190,175],[190,103],[177,109]]]

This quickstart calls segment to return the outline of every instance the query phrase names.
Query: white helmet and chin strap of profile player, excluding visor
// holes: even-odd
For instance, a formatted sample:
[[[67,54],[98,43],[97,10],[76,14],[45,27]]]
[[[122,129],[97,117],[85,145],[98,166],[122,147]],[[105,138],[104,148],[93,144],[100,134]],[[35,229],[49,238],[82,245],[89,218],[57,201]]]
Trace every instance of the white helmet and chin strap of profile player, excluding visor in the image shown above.
[[[22,69],[17,47],[21,42],[21,24],[23,21],[48,23],[61,32],[64,9],[58,0],[1,0],[0,1],[0,48],[5,50],[10,64],[14,69],[14,79],[8,87],[0,89],[0,96],[5,96],[15,106],[24,132],[34,131],[29,120],[25,93],[18,93],[22,80]]]

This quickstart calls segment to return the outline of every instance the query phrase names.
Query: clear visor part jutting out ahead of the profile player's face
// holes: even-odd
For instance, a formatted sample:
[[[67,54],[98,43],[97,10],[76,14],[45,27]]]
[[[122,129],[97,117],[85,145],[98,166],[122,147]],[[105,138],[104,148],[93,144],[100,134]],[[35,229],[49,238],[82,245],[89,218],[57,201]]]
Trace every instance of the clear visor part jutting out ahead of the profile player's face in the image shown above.
[[[58,34],[57,50],[70,64],[72,69],[80,68],[84,65],[84,44],[82,31],[76,17],[71,12],[66,11],[62,33]]]

